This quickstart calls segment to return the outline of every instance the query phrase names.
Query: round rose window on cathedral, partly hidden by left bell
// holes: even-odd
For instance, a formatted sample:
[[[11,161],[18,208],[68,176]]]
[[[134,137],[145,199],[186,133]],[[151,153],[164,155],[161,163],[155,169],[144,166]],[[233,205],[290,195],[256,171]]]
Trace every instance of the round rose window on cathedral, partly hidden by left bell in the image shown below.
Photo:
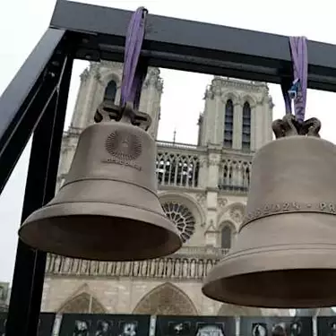
[[[194,234],[195,220],[193,213],[183,204],[166,202],[162,205],[168,219],[172,220],[180,231],[182,241],[185,243]]]

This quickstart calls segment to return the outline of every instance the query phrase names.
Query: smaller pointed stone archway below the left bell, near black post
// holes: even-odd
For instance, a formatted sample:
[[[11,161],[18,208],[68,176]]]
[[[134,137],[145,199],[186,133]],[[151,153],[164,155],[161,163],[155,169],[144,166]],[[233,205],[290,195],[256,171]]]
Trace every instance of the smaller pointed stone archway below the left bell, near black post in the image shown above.
[[[58,313],[105,314],[106,309],[99,303],[97,298],[83,292],[67,300],[65,304],[58,309]]]

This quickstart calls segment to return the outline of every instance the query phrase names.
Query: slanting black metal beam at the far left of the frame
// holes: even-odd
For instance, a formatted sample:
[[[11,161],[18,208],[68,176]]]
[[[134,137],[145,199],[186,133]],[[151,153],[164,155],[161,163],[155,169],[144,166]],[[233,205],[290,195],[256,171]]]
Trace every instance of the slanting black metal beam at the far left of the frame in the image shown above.
[[[48,29],[0,97],[0,193],[55,93],[64,48],[65,30]]]

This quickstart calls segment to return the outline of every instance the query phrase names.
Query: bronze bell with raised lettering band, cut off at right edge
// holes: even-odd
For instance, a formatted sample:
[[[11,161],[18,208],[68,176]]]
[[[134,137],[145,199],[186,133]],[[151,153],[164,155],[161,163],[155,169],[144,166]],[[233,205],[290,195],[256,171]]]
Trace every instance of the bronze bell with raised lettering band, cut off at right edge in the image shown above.
[[[319,129],[315,118],[273,123],[278,139],[255,154],[236,244],[204,295],[240,306],[336,306],[336,146]]]

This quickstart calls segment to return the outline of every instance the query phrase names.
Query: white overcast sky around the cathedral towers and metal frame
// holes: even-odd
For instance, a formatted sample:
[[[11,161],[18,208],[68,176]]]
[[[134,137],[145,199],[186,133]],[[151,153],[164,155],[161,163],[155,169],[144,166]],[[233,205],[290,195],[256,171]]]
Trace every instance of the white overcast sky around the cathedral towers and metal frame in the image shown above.
[[[281,35],[305,35],[308,39],[336,44],[336,22],[332,1],[320,0],[91,0],[82,1],[110,7],[135,10],[144,5],[150,13],[211,22],[250,30],[261,30]],[[0,94],[30,54],[47,29],[56,0],[0,1]],[[246,41],[248,43],[248,41]],[[335,55],[336,57],[336,55]],[[67,109],[69,125],[79,87],[79,75],[87,63],[77,61]],[[197,119],[203,109],[203,93],[211,76],[161,70],[164,79],[162,117],[159,139],[171,141],[177,128],[177,142],[195,143]],[[283,114],[280,87],[270,85],[275,103],[274,118]],[[335,94],[308,90],[306,117],[322,120],[322,136],[336,141]],[[0,111],[1,113],[1,111]],[[24,151],[13,175],[0,195],[0,281],[11,281],[17,245],[29,148]]]

